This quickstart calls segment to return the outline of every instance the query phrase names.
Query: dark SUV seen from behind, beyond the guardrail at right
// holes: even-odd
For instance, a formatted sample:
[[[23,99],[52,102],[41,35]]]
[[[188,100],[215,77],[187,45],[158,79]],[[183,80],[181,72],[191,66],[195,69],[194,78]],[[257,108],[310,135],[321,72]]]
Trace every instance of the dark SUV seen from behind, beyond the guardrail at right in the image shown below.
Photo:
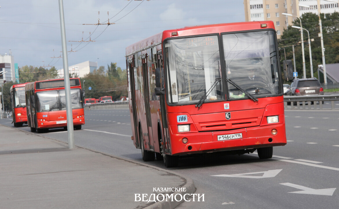
[[[305,96],[324,94],[317,78],[295,78],[287,90],[286,95]]]

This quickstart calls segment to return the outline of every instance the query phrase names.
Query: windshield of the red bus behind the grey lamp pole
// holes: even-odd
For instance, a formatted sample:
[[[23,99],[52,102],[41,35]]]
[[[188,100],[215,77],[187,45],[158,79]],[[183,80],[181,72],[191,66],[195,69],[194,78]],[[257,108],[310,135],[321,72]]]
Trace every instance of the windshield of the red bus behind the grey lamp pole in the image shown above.
[[[59,94],[60,98],[57,90],[37,92],[37,112],[66,110],[65,90],[59,90]],[[71,89],[71,104],[72,109],[83,108],[80,89]]]

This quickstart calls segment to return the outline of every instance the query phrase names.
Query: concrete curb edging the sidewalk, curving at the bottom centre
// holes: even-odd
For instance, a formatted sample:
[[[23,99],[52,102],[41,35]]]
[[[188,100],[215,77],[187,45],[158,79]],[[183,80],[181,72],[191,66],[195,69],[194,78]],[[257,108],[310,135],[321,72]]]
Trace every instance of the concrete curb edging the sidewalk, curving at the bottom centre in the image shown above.
[[[3,124],[0,124],[0,126],[5,126],[5,127],[8,127],[8,128],[11,128],[11,129],[16,129],[15,127],[10,127],[10,126],[6,126],[6,125],[3,125]],[[49,138],[49,137],[46,137],[46,136],[41,136],[41,135],[38,135],[38,134],[35,134],[35,133],[32,133],[32,132],[28,132],[28,131],[23,131],[23,130],[20,130],[20,129],[16,129],[18,131],[21,131],[21,132],[24,132],[24,133],[28,133],[28,134],[32,134],[32,135],[36,135],[36,136],[39,136],[39,137],[43,137],[43,138],[47,138],[47,139],[51,139],[51,140],[54,140],[54,141],[57,141],[57,142],[61,142],[63,144],[68,144],[66,142],[63,142],[63,141],[59,141],[57,139],[52,139],[52,138]],[[110,155],[110,154],[106,154],[106,153],[102,153],[102,152],[98,152],[98,151],[95,151],[95,150],[92,150],[92,149],[88,149],[88,148],[84,148],[84,147],[81,147],[81,146],[76,146],[78,148],[82,148],[82,149],[86,149],[86,150],[89,150],[91,152],[95,152],[95,153],[100,153],[102,155],[105,155],[105,156],[108,156],[108,157],[111,157],[111,158],[116,158],[116,159],[119,159],[119,160],[124,160],[124,161],[127,161],[127,162],[130,162],[130,163],[134,163],[134,164],[138,164],[138,165],[142,165],[142,166],[146,166],[146,167],[149,167],[149,168],[153,168],[153,169],[156,169],[156,170],[160,170],[160,171],[163,171],[163,172],[167,172],[167,173],[170,173],[172,175],[175,175],[181,179],[184,180],[184,184],[180,185],[179,187],[181,188],[186,188],[186,191],[177,191],[177,192],[171,192],[171,193],[167,193],[167,194],[172,194],[173,193],[173,196],[175,196],[176,194],[181,194],[181,196],[183,196],[184,194],[193,194],[195,193],[196,191],[196,188],[195,188],[195,185],[194,185],[194,182],[191,178],[188,178],[188,177],[185,177],[185,176],[182,176],[182,175],[179,175],[178,173],[176,172],[173,172],[173,171],[169,171],[169,170],[165,170],[163,168],[159,168],[159,167],[156,167],[156,166],[152,166],[152,165],[147,165],[147,164],[144,164],[144,163],[140,163],[140,162],[137,162],[137,161],[134,161],[134,160],[130,160],[130,159],[125,159],[125,158],[121,158],[121,157],[118,157],[118,156],[114,156],[114,155]],[[163,193],[163,194],[166,194],[166,193]],[[152,203],[152,204],[149,204],[147,206],[145,206],[144,208],[147,208],[147,209],[167,209],[167,208],[175,208],[177,207],[180,203],[184,202],[185,200],[182,198],[181,201],[173,201],[173,202],[166,202],[166,201],[159,201],[159,202],[156,202],[156,203]]]

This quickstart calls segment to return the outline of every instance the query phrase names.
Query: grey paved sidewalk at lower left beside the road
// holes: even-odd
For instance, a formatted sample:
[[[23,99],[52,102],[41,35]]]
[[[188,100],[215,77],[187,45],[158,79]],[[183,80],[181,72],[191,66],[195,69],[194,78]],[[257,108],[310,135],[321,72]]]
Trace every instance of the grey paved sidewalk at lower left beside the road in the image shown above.
[[[194,183],[161,168],[68,149],[57,140],[0,125],[1,208],[174,208],[179,203],[135,201],[153,188],[186,188]],[[172,192],[176,194],[175,192]],[[155,196],[156,196],[155,195]]]

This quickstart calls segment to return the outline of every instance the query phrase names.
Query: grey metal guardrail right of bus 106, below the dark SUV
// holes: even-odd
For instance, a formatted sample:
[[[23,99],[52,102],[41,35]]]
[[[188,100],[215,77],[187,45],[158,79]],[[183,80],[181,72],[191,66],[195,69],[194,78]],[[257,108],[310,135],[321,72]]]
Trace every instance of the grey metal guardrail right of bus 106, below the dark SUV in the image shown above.
[[[323,102],[325,101],[331,101],[331,109],[323,108]],[[339,101],[339,94],[284,96],[284,108],[285,110],[335,110],[334,101]],[[300,102],[302,103],[301,105]],[[291,104],[291,108],[289,108],[289,104]]]

